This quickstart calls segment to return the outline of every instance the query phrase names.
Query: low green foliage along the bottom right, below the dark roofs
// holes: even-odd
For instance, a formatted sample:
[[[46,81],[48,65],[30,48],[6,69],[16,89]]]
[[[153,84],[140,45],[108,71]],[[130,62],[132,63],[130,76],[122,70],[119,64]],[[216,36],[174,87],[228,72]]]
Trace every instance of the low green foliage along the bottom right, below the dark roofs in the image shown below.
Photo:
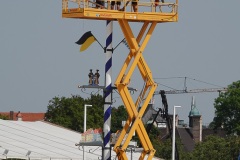
[[[185,152],[180,139],[176,139],[180,160],[232,160],[237,159],[240,148],[240,138],[229,136],[221,138],[219,136],[208,136],[203,142],[195,144],[192,152]],[[153,143],[154,144],[154,143]],[[156,156],[165,160],[171,160],[172,148],[171,139],[159,142]]]

